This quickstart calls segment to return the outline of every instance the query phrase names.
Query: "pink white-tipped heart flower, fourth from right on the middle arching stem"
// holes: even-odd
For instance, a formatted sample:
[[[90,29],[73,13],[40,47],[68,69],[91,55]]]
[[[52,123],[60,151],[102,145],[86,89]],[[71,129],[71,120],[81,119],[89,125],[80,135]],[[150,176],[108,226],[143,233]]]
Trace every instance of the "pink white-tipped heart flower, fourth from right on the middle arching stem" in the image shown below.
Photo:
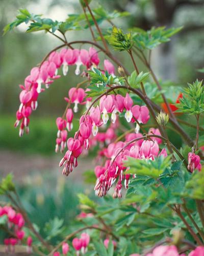
[[[112,113],[115,108],[113,97],[111,95],[104,95],[100,98],[99,106],[101,113],[103,113],[103,122],[106,124],[109,120],[108,113]]]

